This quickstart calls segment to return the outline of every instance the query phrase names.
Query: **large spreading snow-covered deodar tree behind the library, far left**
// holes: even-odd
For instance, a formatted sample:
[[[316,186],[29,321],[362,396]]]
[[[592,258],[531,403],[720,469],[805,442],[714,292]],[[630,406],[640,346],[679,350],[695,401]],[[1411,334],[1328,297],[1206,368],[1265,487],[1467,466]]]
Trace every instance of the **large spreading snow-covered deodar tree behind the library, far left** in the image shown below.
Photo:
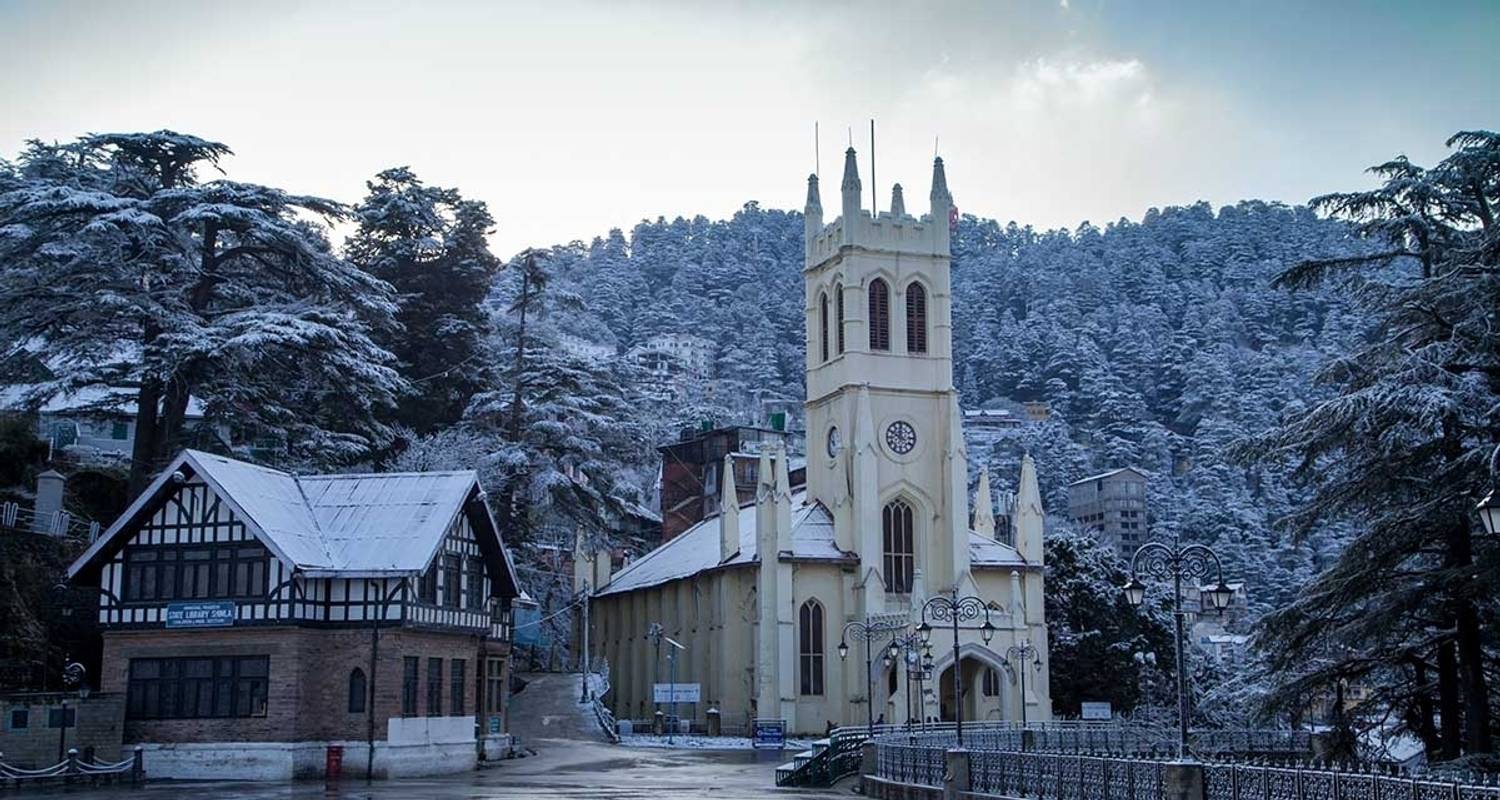
[[[316,197],[200,182],[230,155],[171,131],[30,143],[0,192],[0,342],[45,356],[38,395],[130,387],[130,485],[182,444],[189,396],[290,459],[357,458],[404,381],[370,339],[392,290],[336,257]]]

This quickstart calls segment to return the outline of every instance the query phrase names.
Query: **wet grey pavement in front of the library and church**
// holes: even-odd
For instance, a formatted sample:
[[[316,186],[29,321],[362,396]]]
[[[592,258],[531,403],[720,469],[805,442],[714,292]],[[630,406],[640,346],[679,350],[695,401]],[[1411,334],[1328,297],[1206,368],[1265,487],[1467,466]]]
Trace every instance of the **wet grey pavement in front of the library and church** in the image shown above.
[[[488,798],[600,798],[678,800],[714,797],[850,797],[838,789],[777,789],[776,765],[790,753],[753,750],[664,750],[620,747],[573,740],[542,740],[538,755],[501,761],[476,773],[402,780],[344,780],[297,783],[154,782],[142,788],[74,789],[56,797],[69,800],[196,800],[196,798],[327,798],[327,800],[488,800]],[[54,795],[46,792],[45,795]]]

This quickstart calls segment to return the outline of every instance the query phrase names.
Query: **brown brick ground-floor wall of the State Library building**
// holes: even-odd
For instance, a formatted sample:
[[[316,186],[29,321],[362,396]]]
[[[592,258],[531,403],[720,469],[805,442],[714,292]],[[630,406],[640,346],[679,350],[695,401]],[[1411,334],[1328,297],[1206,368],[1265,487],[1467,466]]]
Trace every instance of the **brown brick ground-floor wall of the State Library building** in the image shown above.
[[[360,629],[242,627],[214,630],[111,630],[104,636],[100,689],[126,692],[138,657],[268,656],[264,717],[126,720],[124,741],[324,741],[366,737],[366,713],[350,713],[350,675],[370,678],[370,633]],[[417,713],[428,713],[428,659],[442,659],[442,711],[452,714],[452,660],[464,659],[464,716],[474,714],[480,639],[465,633],[382,629],[375,665],[375,738],[402,716],[405,656],[418,656]]]

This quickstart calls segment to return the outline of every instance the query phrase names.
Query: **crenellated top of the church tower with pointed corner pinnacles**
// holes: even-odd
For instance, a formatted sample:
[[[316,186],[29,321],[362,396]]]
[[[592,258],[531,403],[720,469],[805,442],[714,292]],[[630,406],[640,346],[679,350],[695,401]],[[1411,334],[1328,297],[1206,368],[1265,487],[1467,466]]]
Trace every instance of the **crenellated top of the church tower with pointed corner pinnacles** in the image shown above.
[[[807,206],[804,209],[807,269],[828,261],[843,248],[912,255],[948,255],[951,245],[948,216],[952,210],[952,195],[948,194],[948,179],[940,158],[933,161],[933,185],[928,195],[932,210],[920,218],[906,213],[900,183],[891,192],[891,210],[879,215],[872,215],[861,207],[861,189],[860,168],[855,150],[850,147],[844,152],[844,174],[840,185],[843,213],[825,225],[818,176],[808,176]]]

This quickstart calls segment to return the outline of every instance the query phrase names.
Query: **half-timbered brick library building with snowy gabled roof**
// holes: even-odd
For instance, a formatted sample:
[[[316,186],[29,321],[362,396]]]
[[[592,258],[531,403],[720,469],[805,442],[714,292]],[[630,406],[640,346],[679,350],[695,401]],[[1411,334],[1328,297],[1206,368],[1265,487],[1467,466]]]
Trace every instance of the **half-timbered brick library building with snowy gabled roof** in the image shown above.
[[[472,768],[502,743],[514,566],[472,471],[184,450],[69,569],[164,777]]]

